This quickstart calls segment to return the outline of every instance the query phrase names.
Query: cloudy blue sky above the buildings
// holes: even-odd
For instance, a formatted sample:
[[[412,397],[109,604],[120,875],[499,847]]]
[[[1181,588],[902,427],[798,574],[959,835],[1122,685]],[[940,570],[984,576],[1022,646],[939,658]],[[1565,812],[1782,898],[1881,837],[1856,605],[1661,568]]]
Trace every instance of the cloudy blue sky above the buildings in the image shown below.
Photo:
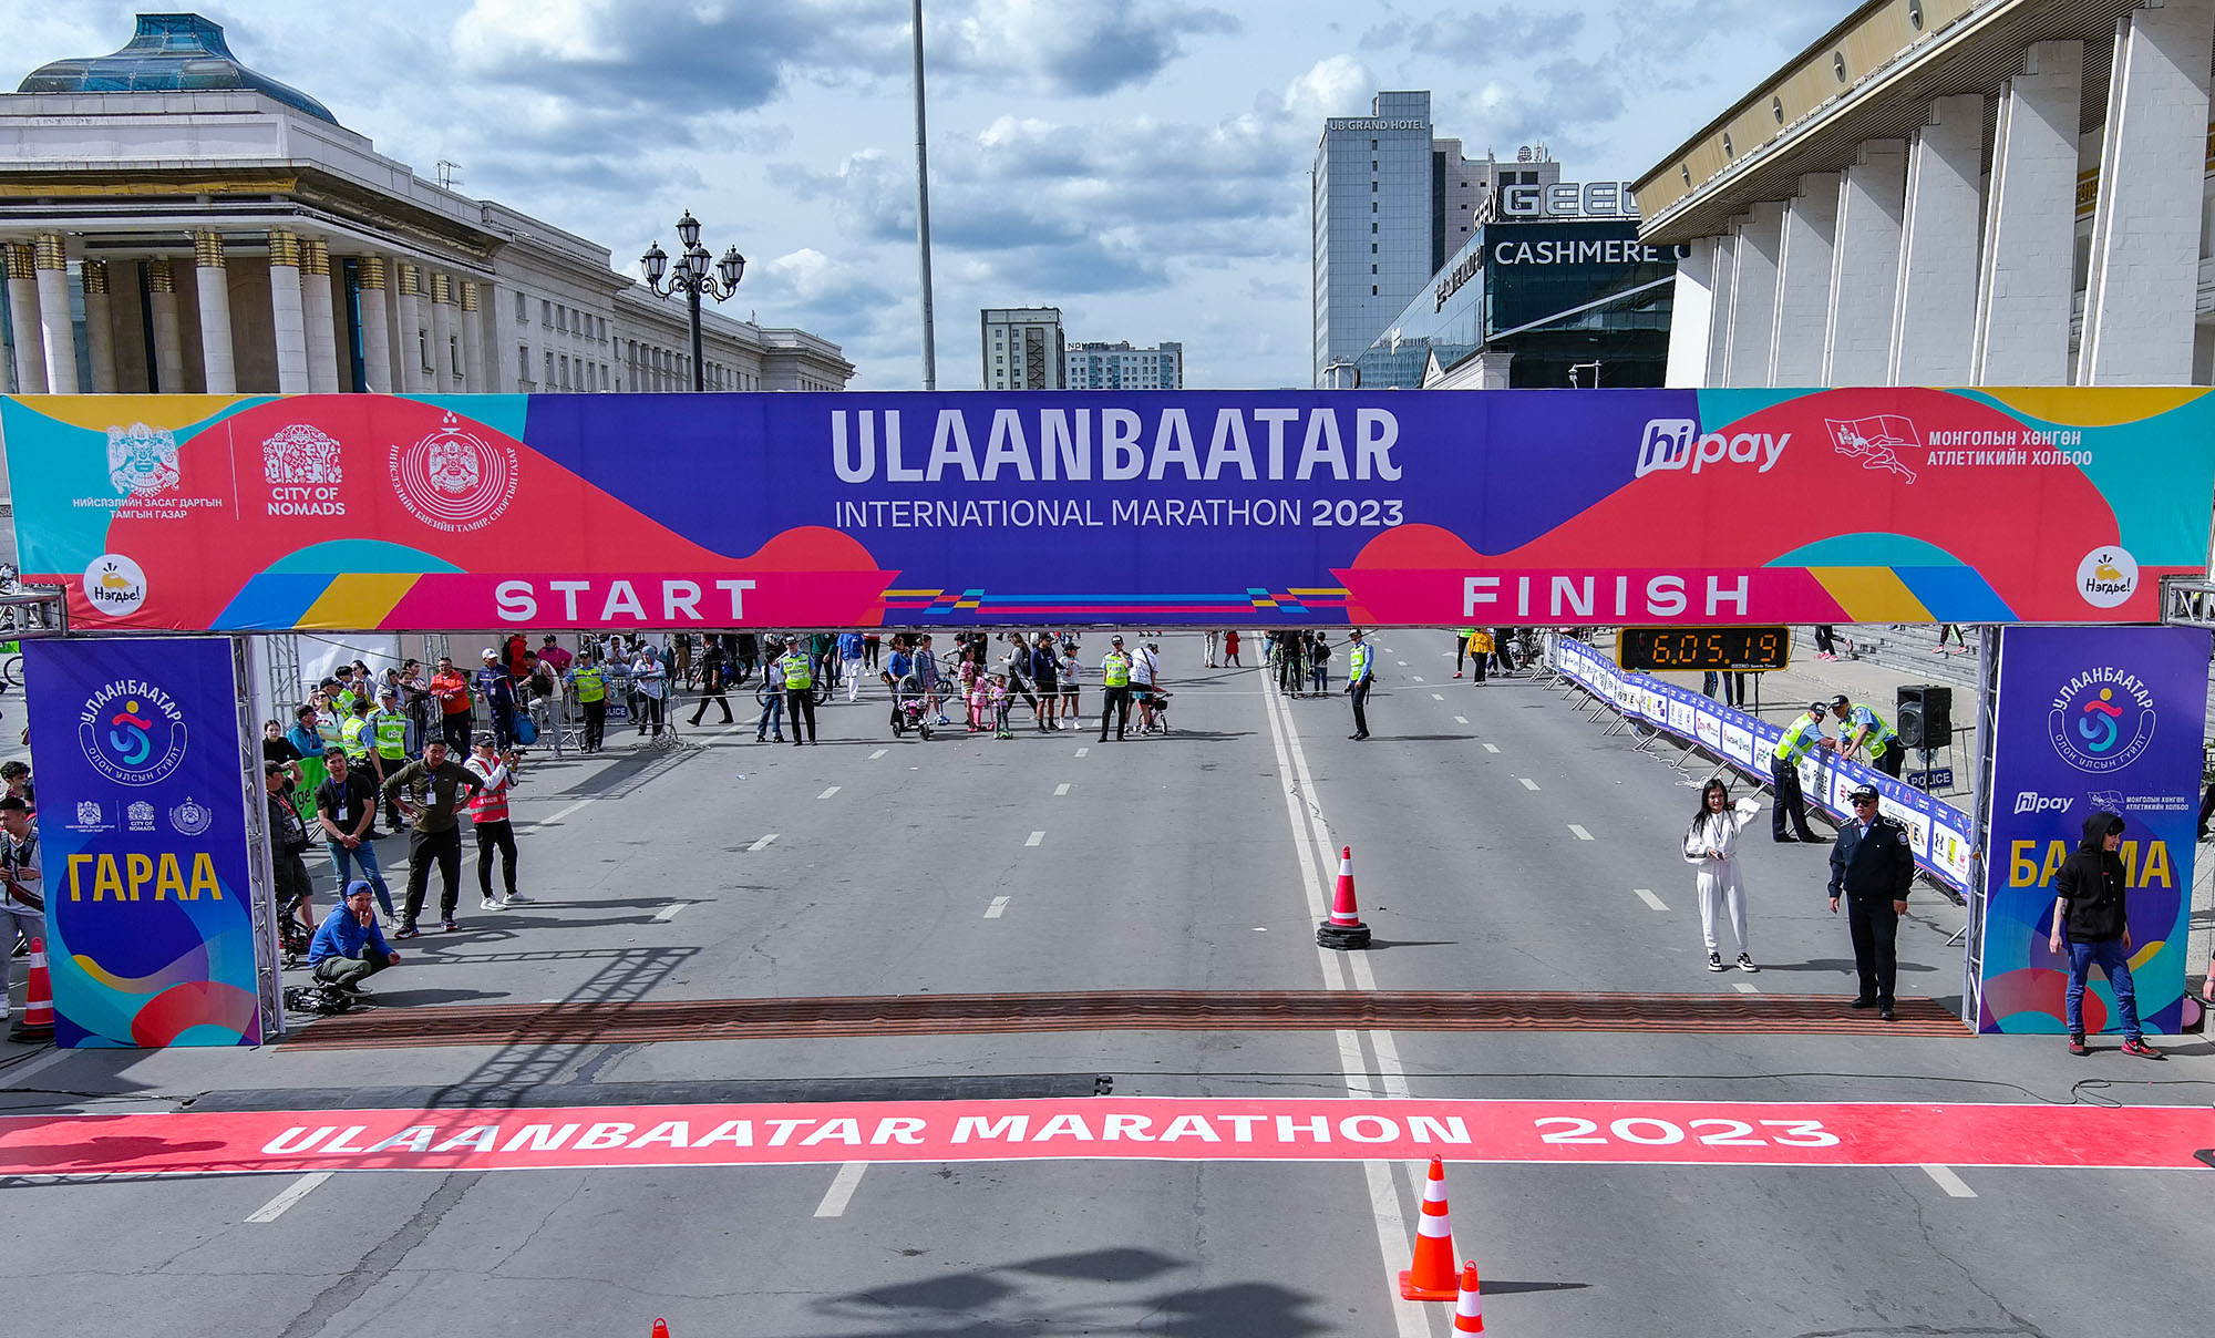
[[[133,9],[0,0],[9,78],[113,51]],[[751,261],[738,315],[839,341],[857,388],[917,385],[906,0],[199,9],[381,153],[459,162],[463,191],[618,266],[691,208]],[[981,306],[1059,306],[1070,339],[1181,339],[1196,388],[1305,385],[1322,117],[1431,89],[1471,155],[1544,142],[1570,179],[1628,179],[1847,9],[926,0],[939,385],[977,385]]]

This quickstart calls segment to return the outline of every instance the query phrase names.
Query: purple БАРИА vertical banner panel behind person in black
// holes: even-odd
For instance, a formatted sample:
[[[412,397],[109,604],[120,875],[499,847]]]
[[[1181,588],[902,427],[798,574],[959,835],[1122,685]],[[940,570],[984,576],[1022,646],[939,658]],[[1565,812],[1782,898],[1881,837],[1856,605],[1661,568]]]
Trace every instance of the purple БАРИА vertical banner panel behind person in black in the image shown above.
[[[2197,627],[2000,631],[1980,1030],[2067,1030],[2067,941],[2060,955],[2049,948],[2053,877],[2098,811],[2129,824],[2120,853],[2140,1023],[2180,1030],[2206,693],[2208,634]],[[2084,1030],[2118,1030],[2098,968]]]

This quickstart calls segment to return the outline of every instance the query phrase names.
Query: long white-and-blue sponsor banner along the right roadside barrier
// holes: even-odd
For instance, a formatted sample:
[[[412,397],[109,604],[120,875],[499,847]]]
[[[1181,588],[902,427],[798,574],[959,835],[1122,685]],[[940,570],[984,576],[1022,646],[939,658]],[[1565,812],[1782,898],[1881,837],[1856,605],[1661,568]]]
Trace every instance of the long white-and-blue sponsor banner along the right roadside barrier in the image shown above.
[[[1630,673],[1579,640],[1555,638],[1555,667],[1595,698],[1613,702],[1619,713],[1730,762],[1756,784],[1768,784],[1770,758],[1783,729],[1675,682]],[[1892,780],[1874,766],[1847,762],[1830,751],[1801,760],[1801,793],[1810,809],[1821,809],[1836,822],[1845,822],[1852,813],[1847,795],[1858,784],[1874,784],[1878,811],[1907,828],[1916,868],[1947,888],[1969,895],[1969,855],[1976,844],[1969,840],[1967,813],[1912,784]]]

